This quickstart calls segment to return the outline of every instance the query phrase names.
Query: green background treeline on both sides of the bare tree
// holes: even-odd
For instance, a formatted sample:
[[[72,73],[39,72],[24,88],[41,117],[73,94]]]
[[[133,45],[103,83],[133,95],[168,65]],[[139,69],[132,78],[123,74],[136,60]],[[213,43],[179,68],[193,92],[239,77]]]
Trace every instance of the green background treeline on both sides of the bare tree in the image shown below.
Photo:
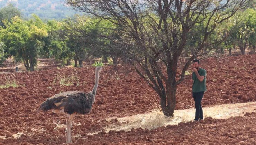
[[[113,30],[118,25],[113,26],[107,20],[76,15],[73,18],[43,22],[35,14],[24,20],[22,12],[11,4],[0,9],[0,20],[0,63],[13,57],[17,63],[22,62],[27,70],[33,71],[37,58],[54,57],[63,64],[71,65],[73,61],[75,67],[82,67],[82,61],[88,58],[102,57],[105,62],[111,58],[116,64],[120,57],[114,52],[120,51],[118,48],[115,50],[115,47],[121,46],[112,41],[121,41],[118,40],[118,32],[122,30]],[[193,36],[189,37],[188,47],[198,45],[203,37],[200,33],[203,25],[205,22],[191,30]],[[225,37],[225,41],[212,52],[228,49],[231,55],[231,50],[239,47],[244,54],[248,46],[255,52],[255,28],[255,9],[239,11],[215,30],[208,43],[214,43],[211,41],[215,38]]]

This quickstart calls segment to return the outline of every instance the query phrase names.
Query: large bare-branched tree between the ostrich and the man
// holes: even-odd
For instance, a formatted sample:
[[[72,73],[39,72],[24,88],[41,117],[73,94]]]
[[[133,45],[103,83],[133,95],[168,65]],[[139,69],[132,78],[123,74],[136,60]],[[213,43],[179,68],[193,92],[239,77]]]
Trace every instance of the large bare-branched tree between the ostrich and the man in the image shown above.
[[[66,0],[73,9],[110,21],[120,39],[109,38],[156,91],[165,116],[173,116],[176,89],[191,61],[223,39],[209,41],[220,23],[249,0]],[[198,29],[201,27],[201,29]],[[200,33],[197,38],[193,38]],[[118,33],[117,33],[118,32]],[[196,39],[193,47],[190,42]],[[114,47],[113,47],[114,46]],[[204,50],[203,50],[204,49]],[[117,51],[119,50],[119,51]],[[203,51],[202,51],[203,50]]]

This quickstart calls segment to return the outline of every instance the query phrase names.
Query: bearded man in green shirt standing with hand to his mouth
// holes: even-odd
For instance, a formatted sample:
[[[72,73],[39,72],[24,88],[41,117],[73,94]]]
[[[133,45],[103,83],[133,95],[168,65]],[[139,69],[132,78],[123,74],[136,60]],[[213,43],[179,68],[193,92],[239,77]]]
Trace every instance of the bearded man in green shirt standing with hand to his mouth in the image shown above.
[[[201,101],[206,91],[206,71],[200,68],[200,61],[198,59],[193,60],[193,86],[192,97],[195,100],[195,121],[203,120],[203,109]]]

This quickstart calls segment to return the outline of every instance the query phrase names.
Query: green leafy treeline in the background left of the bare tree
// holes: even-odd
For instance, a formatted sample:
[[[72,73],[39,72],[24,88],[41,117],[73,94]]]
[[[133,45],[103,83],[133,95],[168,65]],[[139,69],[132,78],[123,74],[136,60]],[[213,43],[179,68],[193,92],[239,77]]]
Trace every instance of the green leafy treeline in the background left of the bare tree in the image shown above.
[[[101,57],[92,47],[97,46],[93,37],[101,30],[96,18],[76,15],[62,20],[42,19],[33,14],[28,20],[21,17],[22,13],[13,5],[0,9],[0,63],[6,58],[13,57],[18,63],[23,63],[27,70],[33,71],[37,65],[37,58],[54,57],[62,64],[82,67],[82,61],[88,57]],[[104,60],[108,61],[108,55]]]

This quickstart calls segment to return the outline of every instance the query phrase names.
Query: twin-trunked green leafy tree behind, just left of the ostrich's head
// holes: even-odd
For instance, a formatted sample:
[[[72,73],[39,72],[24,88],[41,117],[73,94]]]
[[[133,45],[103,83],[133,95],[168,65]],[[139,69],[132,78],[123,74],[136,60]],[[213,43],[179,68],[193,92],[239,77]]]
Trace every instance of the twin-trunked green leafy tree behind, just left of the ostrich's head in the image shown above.
[[[76,16],[65,20],[64,29],[68,37],[67,47],[74,53],[73,59],[75,67],[77,61],[79,67],[83,67],[82,62],[93,54],[92,44],[97,43],[95,35],[98,33],[98,21],[87,16]]]

